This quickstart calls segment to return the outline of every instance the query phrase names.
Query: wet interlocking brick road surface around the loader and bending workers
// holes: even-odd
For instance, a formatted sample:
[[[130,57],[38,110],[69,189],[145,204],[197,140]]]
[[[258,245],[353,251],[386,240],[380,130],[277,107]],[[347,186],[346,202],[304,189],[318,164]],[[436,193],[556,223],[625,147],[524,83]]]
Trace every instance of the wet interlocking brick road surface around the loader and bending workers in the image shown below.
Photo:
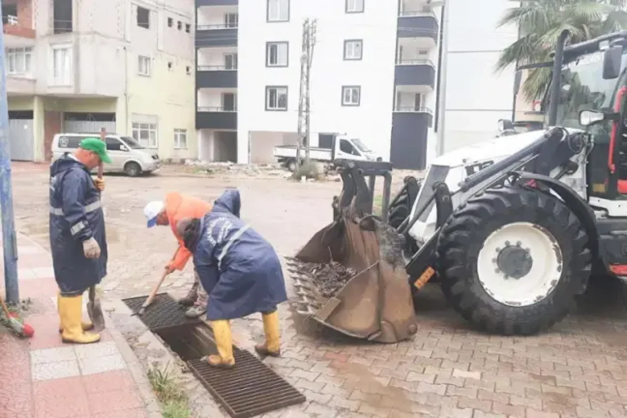
[[[43,245],[46,185],[45,172],[23,170],[14,176],[18,225]],[[145,228],[141,209],[147,201],[171,190],[211,201],[227,185],[240,188],[242,217],[283,256],[295,254],[330,221],[331,197],[341,187],[285,180],[107,176],[107,296],[147,294],[174,252],[169,228]],[[164,290],[181,296],[191,281],[188,265],[167,279]],[[291,291],[289,279],[287,284]],[[22,287],[27,286],[28,281]],[[576,312],[547,333],[503,337],[472,330],[431,284],[418,298],[418,333],[412,341],[392,345],[344,338],[303,321],[284,304],[279,311],[283,356],[264,362],[300,388],[308,401],[264,416],[625,418],[625,296],[621,284],[600,279],[580,298]],[[259,316],[233,321],[233,331],[241,348],[252,350],[263,339]],[[53,335],[48,338],[54,340]]]

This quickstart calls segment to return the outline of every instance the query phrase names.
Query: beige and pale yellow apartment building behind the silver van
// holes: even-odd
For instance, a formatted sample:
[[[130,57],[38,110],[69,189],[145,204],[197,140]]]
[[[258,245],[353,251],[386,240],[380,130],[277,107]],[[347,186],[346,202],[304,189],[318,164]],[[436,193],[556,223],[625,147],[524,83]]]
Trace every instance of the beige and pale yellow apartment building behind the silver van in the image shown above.
[[[13,159],[101,127],[196,158],[193,0],[2,3]]]

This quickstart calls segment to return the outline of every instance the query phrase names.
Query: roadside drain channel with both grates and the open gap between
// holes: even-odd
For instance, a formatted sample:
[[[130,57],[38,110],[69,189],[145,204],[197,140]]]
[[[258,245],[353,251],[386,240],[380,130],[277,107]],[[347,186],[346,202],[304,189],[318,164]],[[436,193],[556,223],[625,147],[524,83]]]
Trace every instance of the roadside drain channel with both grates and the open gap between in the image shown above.
[[[124,299],[137,313],[147,296]],[[305,397],[256,356],[233,346],[235,367],[229,370],[209,367],[201,357],[215,354],[213,332],[203,321],[188,319],[179,304],[167,293],[158,294],[149,309],[139,317],[158,335],[203,386],[233,418],[248,418],[305,402]]]

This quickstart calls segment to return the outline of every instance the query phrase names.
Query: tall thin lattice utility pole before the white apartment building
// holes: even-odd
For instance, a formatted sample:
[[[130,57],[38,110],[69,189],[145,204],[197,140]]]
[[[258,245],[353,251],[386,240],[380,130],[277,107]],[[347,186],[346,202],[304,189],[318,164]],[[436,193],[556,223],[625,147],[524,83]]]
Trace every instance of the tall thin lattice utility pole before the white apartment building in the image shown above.
[[[300,166],[300,154],[305,145],[305,161],[309,161],[310,150],[310,73],[312,58],[314,57],[314,45],[316,39],[316,19],[303,21],[302,53],[300,55],[300,90],[298,92],[298,144],[296,147],[296,168]]]

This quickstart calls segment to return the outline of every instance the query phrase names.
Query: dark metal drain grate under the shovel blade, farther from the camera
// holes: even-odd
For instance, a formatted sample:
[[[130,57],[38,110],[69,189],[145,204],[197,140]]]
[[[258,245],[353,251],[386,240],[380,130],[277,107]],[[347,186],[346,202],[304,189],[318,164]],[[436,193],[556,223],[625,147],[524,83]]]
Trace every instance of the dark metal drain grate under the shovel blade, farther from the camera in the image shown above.
[[[137,296],[122,300],[133,313],[137,313],[147,298],[148,296]],[[169,294],[159,293],[155,296],[152,304],[146,308],[144,314],[137,318],[141,319],[150,331],[159,331],[172,328],[173,326],[198,324],[201,322],[199,318],[187,318],[185,309],[184,306],[179,305],[177,301],[172,299],[172,296]]]

